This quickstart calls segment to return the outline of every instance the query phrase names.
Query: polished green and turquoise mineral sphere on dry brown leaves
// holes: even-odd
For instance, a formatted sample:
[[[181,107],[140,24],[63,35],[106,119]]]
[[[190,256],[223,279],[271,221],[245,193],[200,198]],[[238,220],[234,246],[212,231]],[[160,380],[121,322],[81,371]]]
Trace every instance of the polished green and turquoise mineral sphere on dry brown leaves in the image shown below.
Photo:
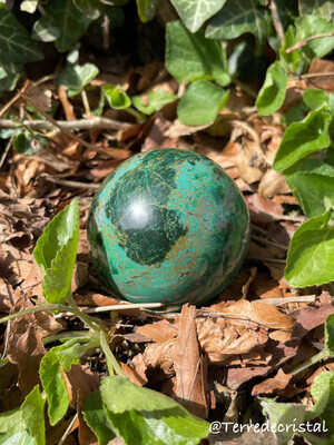
[[[158,149],[126,160],[104,181],[87,234],[92,264],[119,297],[200,305],[238,271],[249,220],[240,191],[217,164]]]

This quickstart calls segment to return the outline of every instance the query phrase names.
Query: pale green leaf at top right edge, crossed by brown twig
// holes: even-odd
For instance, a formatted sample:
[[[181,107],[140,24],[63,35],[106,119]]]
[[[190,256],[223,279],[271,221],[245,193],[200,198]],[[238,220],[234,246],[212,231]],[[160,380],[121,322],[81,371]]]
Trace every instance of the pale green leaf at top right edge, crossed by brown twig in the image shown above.
[[[297,41],[305,40],[307,37],[317,36],[318,33],[333,32],[334,24],[328,20],[315,16],[299,17],[295,21],[295,27],[297,30],[296,39]],[[320,39],[313,39],[303,47],[302,51],[308,59],[317,58],[322,59],[328,52],[334,49],[334,39],[332,37],[322,37]]]

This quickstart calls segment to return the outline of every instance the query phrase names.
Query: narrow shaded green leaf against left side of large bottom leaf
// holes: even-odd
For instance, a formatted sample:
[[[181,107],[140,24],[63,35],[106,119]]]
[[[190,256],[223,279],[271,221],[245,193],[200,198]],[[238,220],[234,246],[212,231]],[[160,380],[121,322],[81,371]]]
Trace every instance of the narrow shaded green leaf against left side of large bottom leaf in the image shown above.
[[[95,433],[99,445],[107,445],[115,438],[115,433],[104,409],[102,398],[99,390],[90,393],[82,407],[85,422]]]

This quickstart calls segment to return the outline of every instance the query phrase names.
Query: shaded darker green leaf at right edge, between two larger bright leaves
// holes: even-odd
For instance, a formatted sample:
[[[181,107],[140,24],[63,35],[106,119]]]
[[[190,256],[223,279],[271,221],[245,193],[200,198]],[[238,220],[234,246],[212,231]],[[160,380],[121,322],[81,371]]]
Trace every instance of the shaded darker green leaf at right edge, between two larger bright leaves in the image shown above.
[[[334,206],[334,170],[332,176],[297,171],[286,179],[307,218],[324,214],[326,202]]]

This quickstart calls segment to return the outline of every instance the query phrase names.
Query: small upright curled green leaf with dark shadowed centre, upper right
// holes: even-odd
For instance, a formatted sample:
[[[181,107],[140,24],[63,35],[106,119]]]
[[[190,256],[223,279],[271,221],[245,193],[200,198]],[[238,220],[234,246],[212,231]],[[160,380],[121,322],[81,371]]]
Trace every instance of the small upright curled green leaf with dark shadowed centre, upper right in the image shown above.
[[[258,112],[268,116],[282,107],[285,99],[286,83],[286,69],[278,61],[271,65],[255,102]]]

